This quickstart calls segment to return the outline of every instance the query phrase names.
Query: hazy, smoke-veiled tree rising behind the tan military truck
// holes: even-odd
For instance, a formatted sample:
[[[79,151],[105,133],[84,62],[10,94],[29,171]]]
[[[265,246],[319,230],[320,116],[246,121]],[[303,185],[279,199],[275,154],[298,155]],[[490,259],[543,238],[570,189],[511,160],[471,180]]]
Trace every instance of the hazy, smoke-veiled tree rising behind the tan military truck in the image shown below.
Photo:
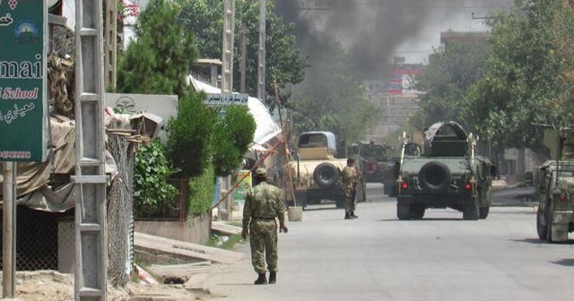
[[[293,91],[293,124],[295,132],[331,131],[339,142],[350,144],[377,125],[380,109],[352,72],[347,53],[336,43],[330,49],[317,57],[308,79]]]

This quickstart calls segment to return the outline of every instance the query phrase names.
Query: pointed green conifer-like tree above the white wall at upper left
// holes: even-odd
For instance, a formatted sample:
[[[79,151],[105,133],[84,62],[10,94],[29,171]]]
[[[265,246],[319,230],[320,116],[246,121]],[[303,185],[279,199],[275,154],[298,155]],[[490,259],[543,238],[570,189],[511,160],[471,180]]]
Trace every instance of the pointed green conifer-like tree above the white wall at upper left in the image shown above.
[[[152,0],[139,14],[137,39],[120,57],[117,90],[125,93],[178,94],[187,91],[185,76],[196,59],[196,40],[178,22],[178,6]]]

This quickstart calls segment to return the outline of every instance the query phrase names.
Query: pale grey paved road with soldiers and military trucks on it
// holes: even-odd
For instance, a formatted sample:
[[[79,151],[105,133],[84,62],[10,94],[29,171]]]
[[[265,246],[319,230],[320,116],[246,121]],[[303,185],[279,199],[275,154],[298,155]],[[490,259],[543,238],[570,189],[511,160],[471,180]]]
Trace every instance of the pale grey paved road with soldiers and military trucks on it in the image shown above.
[[[493,207],[485,220],[429,210],[396,219],[395,202],[362,202],[360,219],[309,207],[280,235],[275,285],[252,285],[248,259],[204,280],[214,300],[566,301],[574,299],[574,246],[541,243],[530,207]],[[382,190],[381,190],[382,192]],[[239,251],[248,254],[248,245]]]

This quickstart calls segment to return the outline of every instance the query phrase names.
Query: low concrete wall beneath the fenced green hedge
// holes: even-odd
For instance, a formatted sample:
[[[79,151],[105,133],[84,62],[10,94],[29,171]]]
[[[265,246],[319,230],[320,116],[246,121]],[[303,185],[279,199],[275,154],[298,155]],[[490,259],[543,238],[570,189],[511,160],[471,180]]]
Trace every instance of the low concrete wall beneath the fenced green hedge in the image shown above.
[[[179,221],[135,220],[135,232],[203,245],[211,235],[211,214]]]

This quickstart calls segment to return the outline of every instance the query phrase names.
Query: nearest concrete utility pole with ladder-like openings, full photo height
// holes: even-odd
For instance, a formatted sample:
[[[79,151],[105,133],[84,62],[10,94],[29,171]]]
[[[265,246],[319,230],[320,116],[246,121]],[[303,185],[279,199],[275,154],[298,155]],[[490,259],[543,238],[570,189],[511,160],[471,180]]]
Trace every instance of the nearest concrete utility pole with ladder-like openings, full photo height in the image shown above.
[[[75,0],[74,300],[85,301],[108,287],[102,1]]]

